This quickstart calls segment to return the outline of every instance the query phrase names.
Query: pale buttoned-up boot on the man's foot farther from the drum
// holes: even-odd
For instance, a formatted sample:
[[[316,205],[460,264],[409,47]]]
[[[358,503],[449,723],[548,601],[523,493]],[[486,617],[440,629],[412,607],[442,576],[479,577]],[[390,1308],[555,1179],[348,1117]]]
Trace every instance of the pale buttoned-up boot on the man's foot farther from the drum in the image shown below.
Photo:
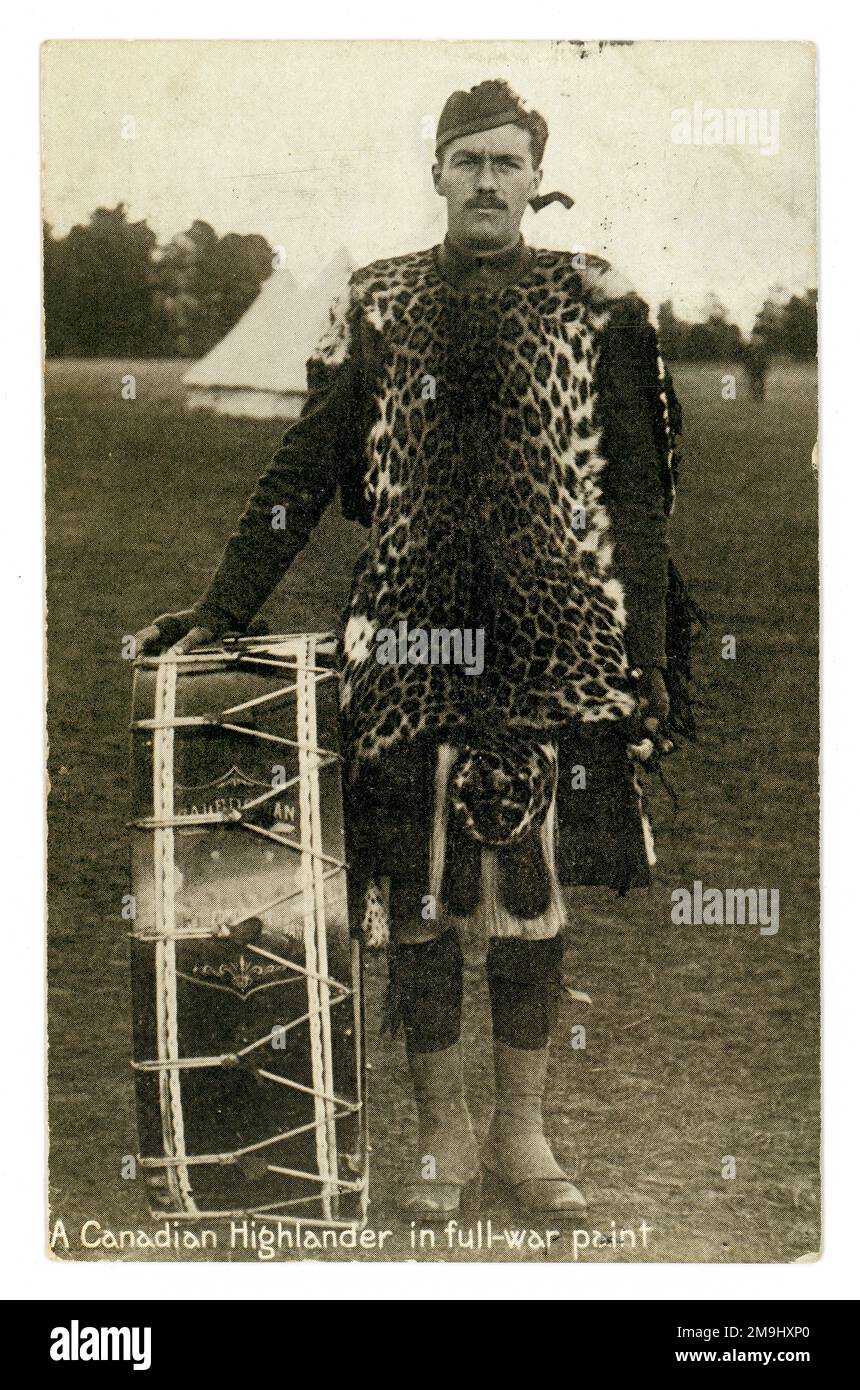
[[[559,1166],[543,1134],[542,1101],[549,1047],[493,1044],[496,1108],[483,1166],[511,1191],[524,1213],[582,1215],[586,1201]]]

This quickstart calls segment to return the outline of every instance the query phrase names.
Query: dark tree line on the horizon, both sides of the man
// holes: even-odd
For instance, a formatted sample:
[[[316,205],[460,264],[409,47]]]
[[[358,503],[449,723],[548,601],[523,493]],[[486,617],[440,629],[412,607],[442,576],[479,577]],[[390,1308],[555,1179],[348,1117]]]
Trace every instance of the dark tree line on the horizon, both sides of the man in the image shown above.
[[[124,203],[99,207],[86,227],[44,227],[44,332],[49,357],[201,357],[233,327],[272,271],[264,236],[218,236],[208,222],[160,246]],[[711,296],[700,321],[657,314],[668,361],[814,359],[817,293],[771,295],[749,339]]]

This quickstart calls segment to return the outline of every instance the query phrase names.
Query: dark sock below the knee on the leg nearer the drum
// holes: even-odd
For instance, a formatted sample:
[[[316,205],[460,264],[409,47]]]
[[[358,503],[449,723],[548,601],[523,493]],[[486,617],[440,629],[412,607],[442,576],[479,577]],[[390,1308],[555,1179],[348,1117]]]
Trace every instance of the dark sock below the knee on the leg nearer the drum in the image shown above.
[[[453,930],[390,949],[392,1031],[403,1022],[410,1052],[440,1052],[460,1040],[463,952]]]

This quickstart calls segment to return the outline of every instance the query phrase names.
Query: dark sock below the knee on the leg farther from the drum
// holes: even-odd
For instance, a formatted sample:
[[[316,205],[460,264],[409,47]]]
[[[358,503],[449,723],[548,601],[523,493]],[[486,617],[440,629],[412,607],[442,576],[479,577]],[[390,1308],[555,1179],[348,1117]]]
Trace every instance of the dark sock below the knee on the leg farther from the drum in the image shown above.
[[[559,1015],[560,937],[492,937],[486,955],[493,1037],[535,1051],[547,1045]]]

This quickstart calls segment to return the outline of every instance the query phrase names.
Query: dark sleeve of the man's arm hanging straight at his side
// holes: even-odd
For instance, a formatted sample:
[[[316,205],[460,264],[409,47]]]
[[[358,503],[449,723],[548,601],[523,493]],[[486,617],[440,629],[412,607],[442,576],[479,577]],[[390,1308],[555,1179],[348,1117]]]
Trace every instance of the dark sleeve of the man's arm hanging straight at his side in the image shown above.
[[[632,667],[665,666],[667,514],[674,498],[679,409],[647,309],[631,295],[614,306],[599,359],[602,478],[613,517],[614,564],[624,588]]]

